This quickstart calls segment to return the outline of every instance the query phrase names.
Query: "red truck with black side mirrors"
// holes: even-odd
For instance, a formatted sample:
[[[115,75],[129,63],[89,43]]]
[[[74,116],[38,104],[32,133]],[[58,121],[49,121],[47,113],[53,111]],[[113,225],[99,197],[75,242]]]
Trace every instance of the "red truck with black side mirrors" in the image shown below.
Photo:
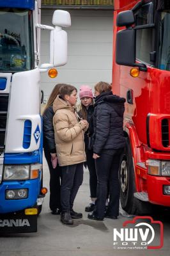
[[[121,206],[170,206],[170,1],[115,0],[113,93],[125,97]]]

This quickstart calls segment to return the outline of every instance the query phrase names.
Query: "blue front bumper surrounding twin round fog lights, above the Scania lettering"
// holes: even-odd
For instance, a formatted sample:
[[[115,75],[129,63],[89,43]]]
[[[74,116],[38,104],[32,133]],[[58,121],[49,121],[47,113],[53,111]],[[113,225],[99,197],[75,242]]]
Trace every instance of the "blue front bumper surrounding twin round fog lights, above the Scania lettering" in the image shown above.
[[[22,181],[4,181],[0,184],[0,214],[6,212],[21,211],[29,207],[33,207],[39,195],[40,184],[39,179],[22,180]],[[6,200],[6,189],[28,189],[28,197],[26,199]]]

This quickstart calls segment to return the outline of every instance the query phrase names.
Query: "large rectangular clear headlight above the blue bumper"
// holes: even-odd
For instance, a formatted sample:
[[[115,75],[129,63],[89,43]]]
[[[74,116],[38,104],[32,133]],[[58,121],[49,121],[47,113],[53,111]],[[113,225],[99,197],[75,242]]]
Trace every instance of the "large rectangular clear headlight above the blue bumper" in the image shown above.
[[[4,166],[4,180],[27,180],[29,179],[29,165],[6,165]]]

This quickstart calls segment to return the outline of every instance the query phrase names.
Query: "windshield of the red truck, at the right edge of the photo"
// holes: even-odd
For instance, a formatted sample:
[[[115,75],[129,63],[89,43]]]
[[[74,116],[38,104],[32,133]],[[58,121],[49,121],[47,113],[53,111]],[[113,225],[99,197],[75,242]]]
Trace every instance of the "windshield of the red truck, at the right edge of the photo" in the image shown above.
[[[170,10],[160,15],[158,68],[170,70]]]

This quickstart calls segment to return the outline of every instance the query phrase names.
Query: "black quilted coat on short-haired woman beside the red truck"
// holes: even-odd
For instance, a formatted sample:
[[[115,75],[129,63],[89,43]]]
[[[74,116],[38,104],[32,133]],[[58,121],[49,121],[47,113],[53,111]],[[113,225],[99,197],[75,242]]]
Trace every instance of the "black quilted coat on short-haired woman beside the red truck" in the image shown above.
[[[125,99],[112,92],[96,97],[93,115],[93,152],[101,154],[104,149],[118,149],[125,146],[123,136],[123,113]]]

